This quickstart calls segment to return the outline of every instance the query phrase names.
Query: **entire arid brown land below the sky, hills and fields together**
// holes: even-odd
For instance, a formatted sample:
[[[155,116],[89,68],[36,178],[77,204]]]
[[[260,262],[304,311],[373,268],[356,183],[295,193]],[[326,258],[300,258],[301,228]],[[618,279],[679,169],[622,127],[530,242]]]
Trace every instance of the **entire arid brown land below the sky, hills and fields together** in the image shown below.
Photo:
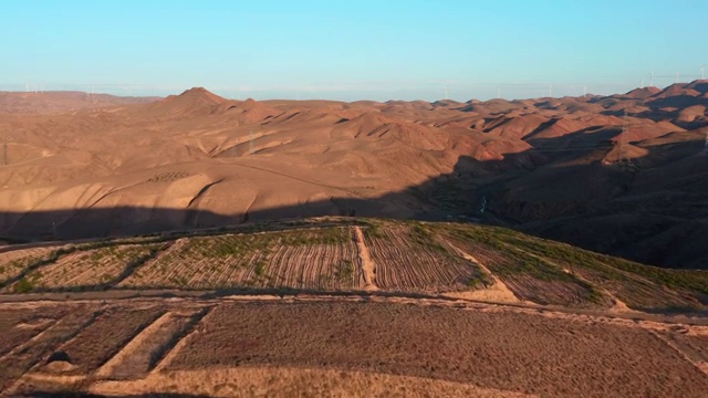
[[[707,397],[707,107],[0,93],[0,395]]]

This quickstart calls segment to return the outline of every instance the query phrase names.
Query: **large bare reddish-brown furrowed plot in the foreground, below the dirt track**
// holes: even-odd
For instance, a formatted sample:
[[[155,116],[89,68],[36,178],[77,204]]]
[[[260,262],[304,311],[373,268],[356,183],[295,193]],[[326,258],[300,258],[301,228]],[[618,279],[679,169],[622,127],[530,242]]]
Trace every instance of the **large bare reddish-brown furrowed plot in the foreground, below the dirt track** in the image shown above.
[[[645,331],[521,314],[225,304],[189,343],[168,370],[208,364],[366,369],[542,396],[690,395],[708,387],[705,374]]]

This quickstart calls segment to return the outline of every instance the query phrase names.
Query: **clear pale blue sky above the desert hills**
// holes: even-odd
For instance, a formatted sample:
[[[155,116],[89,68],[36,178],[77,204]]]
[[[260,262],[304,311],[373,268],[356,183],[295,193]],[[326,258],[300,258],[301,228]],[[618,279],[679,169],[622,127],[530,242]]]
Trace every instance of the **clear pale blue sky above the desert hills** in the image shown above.
[[[0,90],[486,100],[699,76],[706,0],[0,1]]]

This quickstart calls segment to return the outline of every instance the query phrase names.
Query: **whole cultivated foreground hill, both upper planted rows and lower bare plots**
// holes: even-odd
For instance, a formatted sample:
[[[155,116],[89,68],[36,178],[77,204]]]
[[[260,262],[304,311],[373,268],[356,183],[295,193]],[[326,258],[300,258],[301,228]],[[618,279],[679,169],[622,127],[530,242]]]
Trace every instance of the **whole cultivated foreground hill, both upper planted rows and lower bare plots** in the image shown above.
[[[701,397],[708,273],[319,218],[0,253],[11,396]]]

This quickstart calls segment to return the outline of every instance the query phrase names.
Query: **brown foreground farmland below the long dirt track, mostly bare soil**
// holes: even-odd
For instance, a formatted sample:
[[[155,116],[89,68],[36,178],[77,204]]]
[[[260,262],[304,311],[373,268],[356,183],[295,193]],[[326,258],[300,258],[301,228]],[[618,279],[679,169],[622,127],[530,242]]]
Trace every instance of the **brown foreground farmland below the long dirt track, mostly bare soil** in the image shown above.
[[[0,333],[14,345],[0,356],[2,396],[699,398],[708,389],[708,325],[385,296],[22,305],[20,314],[0,303]]]

